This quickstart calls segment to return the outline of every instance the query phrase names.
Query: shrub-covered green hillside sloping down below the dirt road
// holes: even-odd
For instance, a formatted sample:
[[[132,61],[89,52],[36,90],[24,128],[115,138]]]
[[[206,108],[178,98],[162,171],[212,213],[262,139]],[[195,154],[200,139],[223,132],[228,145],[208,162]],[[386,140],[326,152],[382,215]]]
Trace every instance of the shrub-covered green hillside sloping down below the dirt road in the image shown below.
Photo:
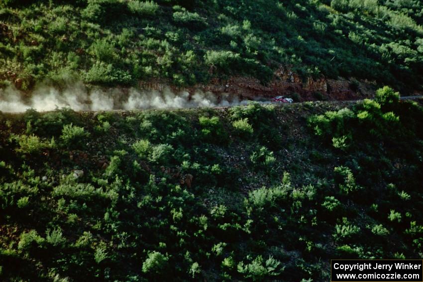
[[[423,254],[423,108],[0,115],[0,280],[327,281]],[[294,113],[295,111],[295,113]]]

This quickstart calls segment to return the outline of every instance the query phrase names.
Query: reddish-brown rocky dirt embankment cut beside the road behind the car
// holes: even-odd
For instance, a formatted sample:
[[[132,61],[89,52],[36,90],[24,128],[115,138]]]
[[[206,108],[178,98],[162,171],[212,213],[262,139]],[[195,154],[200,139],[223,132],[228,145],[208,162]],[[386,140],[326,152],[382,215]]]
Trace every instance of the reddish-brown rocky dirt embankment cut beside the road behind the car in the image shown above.
[[[140,82],[142,89],[162,91],[169,84],[165,81]],[[371,97],[376,90],[376,83],[357,81],[355,79],[326,79],[308,78],[303,80],[288,68],[280,68],[274,74],[274,79],[267,85],[259,80],[247,77],[230,77],[227,80],[213,79],[209,84],[198,84],[190,88],[179,89],[171,87],[178,92],[186,90],[194,93],[197,90],[212,92],[216,95],[228,93],[242,99],[269,98],[277,95],[292,96],[298,101],[307,100],[355,100]]]

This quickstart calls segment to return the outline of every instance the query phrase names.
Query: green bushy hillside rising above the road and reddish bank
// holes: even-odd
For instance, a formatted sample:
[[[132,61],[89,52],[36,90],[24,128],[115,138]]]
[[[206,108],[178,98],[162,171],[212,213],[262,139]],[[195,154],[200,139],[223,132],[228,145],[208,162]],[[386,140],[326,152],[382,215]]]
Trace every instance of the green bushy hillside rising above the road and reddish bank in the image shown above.
[[[175,85],[281,65],[303,78],[423,84],[421,0],[3,0],[0,82]]]

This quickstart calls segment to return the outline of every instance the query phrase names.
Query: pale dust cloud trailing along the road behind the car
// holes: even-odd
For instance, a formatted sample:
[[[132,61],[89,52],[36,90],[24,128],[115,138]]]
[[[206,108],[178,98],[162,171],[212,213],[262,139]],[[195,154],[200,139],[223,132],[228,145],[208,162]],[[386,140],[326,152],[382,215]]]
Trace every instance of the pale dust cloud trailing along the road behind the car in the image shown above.
[[[63,90],[54,87],[37,87],[30,95],[16,90],[14,86],[0,89],[0,111],[23,112],[33,108],[50,111],[69,107],[76,111],[174,109],[190,107],[216,107],[245,104],[238,97],[209,92],[186,91],[174,93],[170,88],[163,91],[142,91],[130,89],[87,89],[82,83],[75,83]]]

